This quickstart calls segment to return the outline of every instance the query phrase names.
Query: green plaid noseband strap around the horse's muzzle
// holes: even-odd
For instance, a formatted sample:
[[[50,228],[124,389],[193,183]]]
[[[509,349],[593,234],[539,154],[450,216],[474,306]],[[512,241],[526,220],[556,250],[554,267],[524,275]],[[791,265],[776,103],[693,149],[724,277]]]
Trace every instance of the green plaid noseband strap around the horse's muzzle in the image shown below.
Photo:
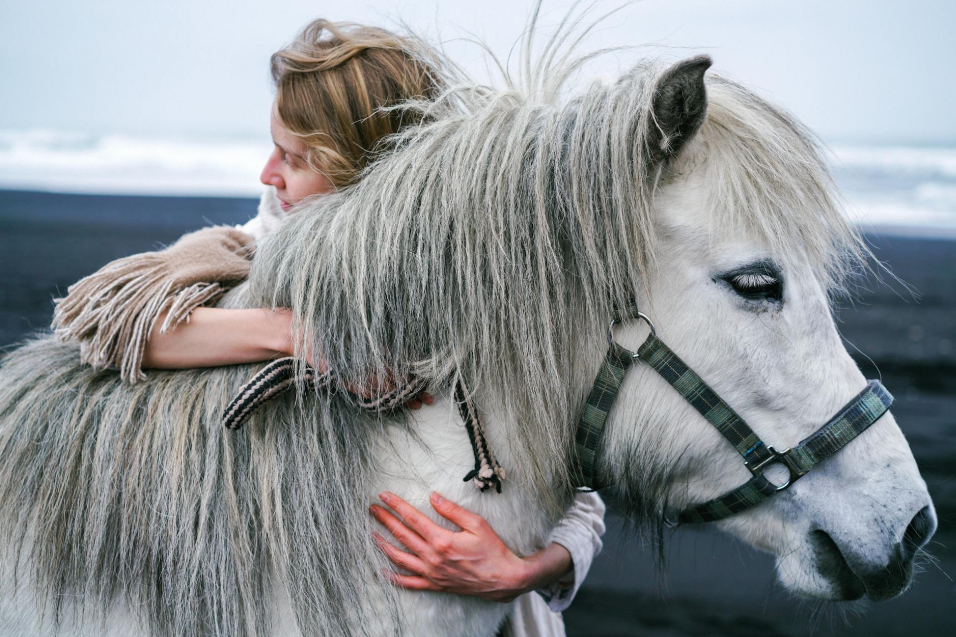
[[[813,435],[804,438],[793,449],[777,453],[768,447],[771,450],[769,459],[765,465],[757,469],[757,473],[750,478],[750,481],[719,498],[684,509],[677,516],[676,521],[687,524],[723,520],[761,503],[776,492],[789,487],[796,479],[806,475],[820,461],[836,454],[879,420],[880,416],[889,410],[892,403],[893,395],[882,386],[880,381],[868,381],[866,389],[858,393],[856,398],[847,403],[823,427]],[[775,462],[784,464],[790,471],[790,478],[784,485],[773,484],[762,473],[764,466]]]

